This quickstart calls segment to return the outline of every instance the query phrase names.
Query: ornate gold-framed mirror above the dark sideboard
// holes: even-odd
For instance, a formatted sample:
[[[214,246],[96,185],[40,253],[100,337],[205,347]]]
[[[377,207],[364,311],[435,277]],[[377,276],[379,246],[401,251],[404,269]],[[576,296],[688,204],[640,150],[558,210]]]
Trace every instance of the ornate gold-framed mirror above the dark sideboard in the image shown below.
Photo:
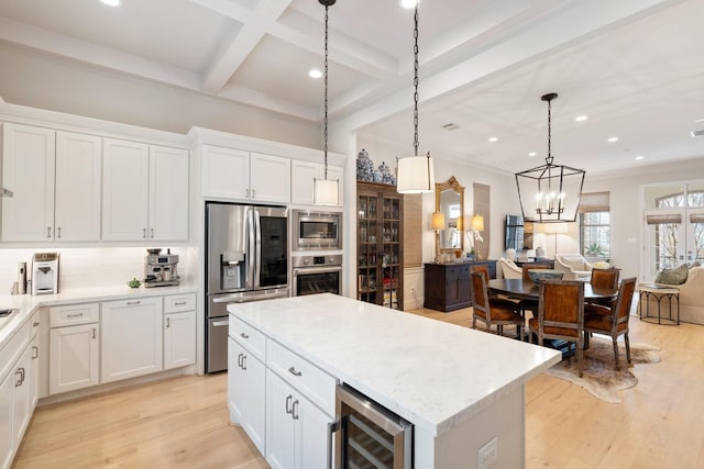
[[[461,255],[464,250],[464,186],[454,176],[436,183],[436,212],[444,214],[444,227],[436,233],[440,252]]]

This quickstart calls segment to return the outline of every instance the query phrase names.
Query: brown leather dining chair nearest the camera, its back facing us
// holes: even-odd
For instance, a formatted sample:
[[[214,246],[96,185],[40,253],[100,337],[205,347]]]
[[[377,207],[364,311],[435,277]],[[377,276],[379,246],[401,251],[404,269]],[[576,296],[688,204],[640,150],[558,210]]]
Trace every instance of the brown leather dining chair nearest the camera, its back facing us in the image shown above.
[[[528,321],[529,337],[538,344],[544,339],[574,343],[578,370],[582,377],[584,354],[584,282],[579,280],[543,280],[538,295],[538,317]]]

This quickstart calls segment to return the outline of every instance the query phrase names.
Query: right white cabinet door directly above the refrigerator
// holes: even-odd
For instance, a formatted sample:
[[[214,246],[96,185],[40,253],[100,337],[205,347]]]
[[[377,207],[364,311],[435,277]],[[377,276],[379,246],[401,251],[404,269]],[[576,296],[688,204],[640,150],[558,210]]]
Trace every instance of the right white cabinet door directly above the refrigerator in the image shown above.
[[[251,155],[250,198],[255,202],[290,202],[290,159],[279,156]]]

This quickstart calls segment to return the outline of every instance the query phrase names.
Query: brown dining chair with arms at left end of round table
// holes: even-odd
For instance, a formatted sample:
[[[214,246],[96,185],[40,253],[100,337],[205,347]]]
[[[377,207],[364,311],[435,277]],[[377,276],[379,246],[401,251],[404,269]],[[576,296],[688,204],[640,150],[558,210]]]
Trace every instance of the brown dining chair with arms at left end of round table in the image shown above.
[[[515,325],[518,336],[522,337],[525,322],[518,305],[502,298],[490,298],[483,272],[472,271],[472,328],[476,328],[476,320],[480,320],[485,324],[486,331],[491,332],[496,326],[496,333],[504,335],[504,325]]]

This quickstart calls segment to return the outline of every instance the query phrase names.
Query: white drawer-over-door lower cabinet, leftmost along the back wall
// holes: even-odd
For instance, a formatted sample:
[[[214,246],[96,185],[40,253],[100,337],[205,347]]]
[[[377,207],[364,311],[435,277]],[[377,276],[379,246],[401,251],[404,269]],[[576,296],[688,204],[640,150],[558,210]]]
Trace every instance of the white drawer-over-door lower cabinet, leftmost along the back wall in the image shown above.
[[[50,394],[98,384],[99,312],[98,303],[50,308]]]

